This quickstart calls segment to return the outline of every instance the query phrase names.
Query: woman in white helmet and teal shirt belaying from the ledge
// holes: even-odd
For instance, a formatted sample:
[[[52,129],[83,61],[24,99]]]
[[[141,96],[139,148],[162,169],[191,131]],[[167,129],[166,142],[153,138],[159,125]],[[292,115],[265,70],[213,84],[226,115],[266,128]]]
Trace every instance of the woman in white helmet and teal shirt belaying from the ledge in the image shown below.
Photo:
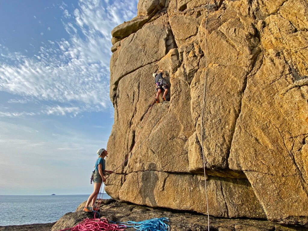
[[[108,152],[105,148],[101,148],[97,151],[97,155],[99,156],[95,162],[95,172],[93,176],[93,182],[94,182],[94,191],[90,195],[90,197],[87,200],[86,205],[84,206],[83,211],[85,212],[92,212],[93,210],[97,211],[99,208],[93,208],[97,195],[99,193],[100,186],[102,185],[102,182],[106,181],[105,173],[112,173],[112,171],[105,170],[105,156],[108,155]],[[107,156],[108,157],[108,156]],[[89,207],[89,204],[91,202],[91,207]],[[92,209],[93,208],[93,209]]]

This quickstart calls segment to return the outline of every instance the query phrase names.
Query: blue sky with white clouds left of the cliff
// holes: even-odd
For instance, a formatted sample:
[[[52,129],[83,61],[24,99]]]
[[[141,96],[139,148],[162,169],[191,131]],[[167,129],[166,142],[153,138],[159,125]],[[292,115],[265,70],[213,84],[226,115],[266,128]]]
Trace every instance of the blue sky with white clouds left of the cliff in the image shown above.
[[[137,3],[0,2],[0,195],[91,193],[113,124],[111,30]]]

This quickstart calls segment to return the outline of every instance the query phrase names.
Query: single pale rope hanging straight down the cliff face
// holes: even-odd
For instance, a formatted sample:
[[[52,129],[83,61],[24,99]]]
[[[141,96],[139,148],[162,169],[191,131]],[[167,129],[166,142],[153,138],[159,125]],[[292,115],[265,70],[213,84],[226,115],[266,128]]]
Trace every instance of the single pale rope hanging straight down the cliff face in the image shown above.
[[[205,89],[206,89],[206,83],[207,83],[207,75],[206,75],[206,26],[208,23],[208,16],[209,16],[209,9],[210,9],[210,3],[208,7],[208,13],[206,14],[206,20],[205,20],[205,76],[204,76],[204,94],[203,94],[203,102],[202,102],[202,113],[201,113],[201,149],[202,149],[202,160],[203,160],[203,170],[204,170],[204,188],[205,188],[205,197],[206,197],[206,209],[208,213],[208,231],[210,230],[210,217],[209,217],[209,206],[208,206],[208,194],[206,191],[206,173],[205,173],[205,162],[204,162],[204,150],[203,150],[203,112],[204,112],[204,104],[205,104]]]

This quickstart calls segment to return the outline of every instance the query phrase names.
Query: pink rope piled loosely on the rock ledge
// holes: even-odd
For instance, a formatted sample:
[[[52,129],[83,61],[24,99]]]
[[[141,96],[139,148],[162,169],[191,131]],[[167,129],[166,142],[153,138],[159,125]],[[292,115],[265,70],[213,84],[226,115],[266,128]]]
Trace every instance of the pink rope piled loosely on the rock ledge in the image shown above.
[[[126,225],[122,224],[108,224],[106,218],[86,218],[73,228],[61,229],[59,231],[123,231],[126,228]]]

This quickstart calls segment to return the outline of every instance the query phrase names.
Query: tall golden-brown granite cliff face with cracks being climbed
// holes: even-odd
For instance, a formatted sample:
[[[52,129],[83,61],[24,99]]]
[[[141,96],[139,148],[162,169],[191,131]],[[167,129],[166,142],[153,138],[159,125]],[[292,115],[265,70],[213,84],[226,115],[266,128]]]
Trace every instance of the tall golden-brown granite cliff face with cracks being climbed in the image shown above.
[[[140,0],[112,32],[106,192],[206,214],[206,177],[212,216],[307,225],[307,18],[304,0]]]

